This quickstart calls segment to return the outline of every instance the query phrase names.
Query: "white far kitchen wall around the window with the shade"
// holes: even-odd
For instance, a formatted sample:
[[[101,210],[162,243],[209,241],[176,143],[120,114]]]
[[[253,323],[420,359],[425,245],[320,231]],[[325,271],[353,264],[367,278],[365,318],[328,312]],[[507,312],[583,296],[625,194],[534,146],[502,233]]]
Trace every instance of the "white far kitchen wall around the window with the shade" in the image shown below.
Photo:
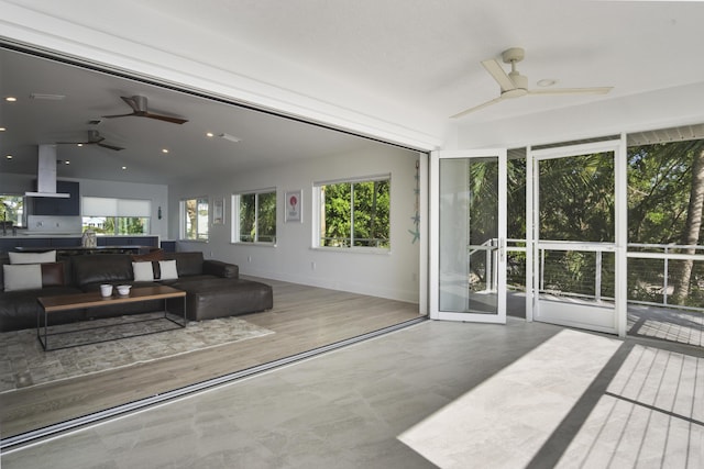
[[[144,199],[152,201],[152,232],[162,239],[168,238],[168,187],[164,185],[145,185],[134,182],[103,181],[80,178],[58,178],[79,182],[80,196],[116,197],[122,199]],[[0,192],[24,193],[35,190],[34,175],[0,174]],[[158,220],[158,208],[163,217]]]

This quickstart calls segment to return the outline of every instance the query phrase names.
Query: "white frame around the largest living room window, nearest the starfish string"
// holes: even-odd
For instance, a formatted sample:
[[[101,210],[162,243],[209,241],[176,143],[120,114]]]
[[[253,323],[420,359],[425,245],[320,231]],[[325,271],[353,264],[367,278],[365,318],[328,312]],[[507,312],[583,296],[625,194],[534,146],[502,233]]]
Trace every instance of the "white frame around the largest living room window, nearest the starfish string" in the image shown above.
[[[322,186],[331,186],[338,183],[363,183],[363,182],[373,182],[373,181],[388,181],[389,183],[389,213],[388,213],[388,247],[370,247],[370,246],[353,246],[354,237],[353,234],[350,234],[350,246],[348,247],[338,247],[338,246],[322,246],[320,244],[320,225],[322,223],[322,197],[320,188]],[[315,181],[312,183],[312,237],[311,237],[311,246],[312,249],[321,249],[321,250],[338,250],[342,253],[375,253],[375,254],[391,254],[392,252],[392,213],[391,213],[391,187],[392,186],[392,175],[383,174],[383,175],[371,175],[371,176],[362,176],[354,178],[343,178],[343,179],[331,179],[331,180],[322,180]],[[352,217],[354,215],[352,214]],[[352,219],[354,220],[354,219]],[[352,221],[351,228],[353,230],[354,222]]]

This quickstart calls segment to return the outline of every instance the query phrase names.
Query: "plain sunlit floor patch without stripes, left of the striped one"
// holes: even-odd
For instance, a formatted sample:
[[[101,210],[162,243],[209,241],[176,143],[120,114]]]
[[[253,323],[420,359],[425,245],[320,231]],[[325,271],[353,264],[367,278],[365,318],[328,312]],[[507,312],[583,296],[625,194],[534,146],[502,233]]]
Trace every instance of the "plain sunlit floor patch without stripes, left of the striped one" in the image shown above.
[[[441,468],[525,467],[620,345],[564,330],[398,438]]]

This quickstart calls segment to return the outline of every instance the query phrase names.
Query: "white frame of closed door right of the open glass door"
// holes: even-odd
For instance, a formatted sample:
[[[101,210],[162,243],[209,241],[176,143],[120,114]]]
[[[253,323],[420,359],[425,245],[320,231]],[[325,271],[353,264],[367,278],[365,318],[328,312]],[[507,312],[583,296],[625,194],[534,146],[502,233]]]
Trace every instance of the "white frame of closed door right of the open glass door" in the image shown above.
[[[613,152],[614,154],[614,197],[615,197],[615,233],[614,243],[608,246],[607,252],[615,253],[615,284],[614,284],[614,316],[609,321],[608,325],[594,325],[590,326],[582,322],[572,322],[564,319],[556,317],[541,317],[539,309],[539,171],[538,164],[540,160],[550,158],[562,158],[570,156],[579,156],[585,154]],[[527,193],[532,194],[529,198],[526,213],[526,234],[527,234],[527,279],[526,290],[530,292],[529,299],[526,304],[526,317],[528,321],[544,321],[553,324],[560,324],[565,326],[574,326],[580,328],[588,328],[592,331],[606,332],[612,334],[618,334],[619,336],[626,335],[627,323],[627,258],[626,246],[628,238],[628,225],[627,225],[627,148],[626,148],[626,135],[622,135],[619,139],[610,139],[603,142],[595,142],[580,145],[565,145],[557,146],[549,149],[534,150],[528,147],[527,152]],[[558,245],[553,246],[560,248]],[[591,243],[574,243],[574,248],[584,248],[591,250],[593,246]]]

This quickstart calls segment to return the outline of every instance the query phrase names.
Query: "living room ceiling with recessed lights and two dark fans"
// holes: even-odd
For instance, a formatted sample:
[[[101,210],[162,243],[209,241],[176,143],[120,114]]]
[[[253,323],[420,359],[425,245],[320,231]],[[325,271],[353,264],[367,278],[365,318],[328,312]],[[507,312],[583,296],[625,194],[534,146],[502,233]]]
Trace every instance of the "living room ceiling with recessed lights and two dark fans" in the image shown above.
[[[46,60],[13,51],[0,51],[0,93],[18,97],[2,102],[0,170],[35,174],[37,145],[87,142],[98,131],[103,144],[59,144],[59,178],[89,178],[172,183],[237,170],[275,165],[283,159],[323,157],[376,143],[340,132],[177,92],[140,81]],[[32,93],[65,99],[31,99]],[[148,110],[188,119],[183,125],[145,118],[105,119],[132,109],[120,97],[147,98]],[[90,121],[99,121],[91,124]],[[207,132],[216,136],[209,138]],[[233,143],[217,135],[241,138]],[[162,153],[163,148],[168,154]],[[12,159],[7,159],[12,155]],[[122,167],[127,169],[123,170]]]

